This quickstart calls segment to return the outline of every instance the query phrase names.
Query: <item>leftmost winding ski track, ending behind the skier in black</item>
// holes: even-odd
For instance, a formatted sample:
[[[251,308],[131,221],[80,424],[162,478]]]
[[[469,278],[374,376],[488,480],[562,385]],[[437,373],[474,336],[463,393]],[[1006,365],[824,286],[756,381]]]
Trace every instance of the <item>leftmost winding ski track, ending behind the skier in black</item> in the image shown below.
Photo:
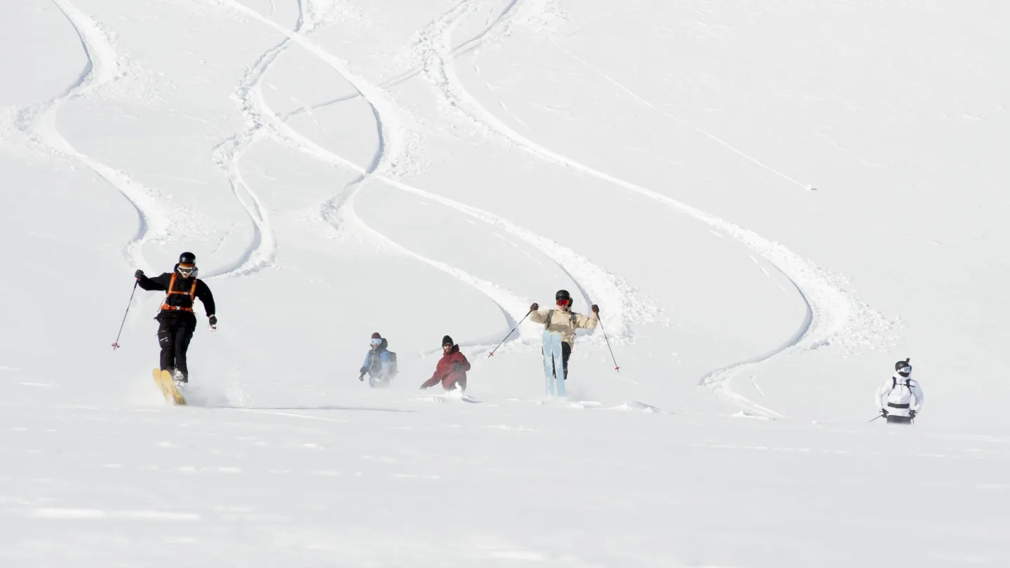
[[[143,259],[144,245],[168,240],[172,215],[159,203],[160,193],[127,174],[91,159],[77,151],[57,128],[60,108],[77,98],[88,98],[125,75],[125,61],[101,24],[78,10],[68,0],[53,0],[81,40],[87,63],[78,79],[56,97],[18,109],[15,125],[31,144],[49,154],[80,162],[116,188],[136,210],[138,228],[125,247],[125,256],[133,266],[148,266]]]

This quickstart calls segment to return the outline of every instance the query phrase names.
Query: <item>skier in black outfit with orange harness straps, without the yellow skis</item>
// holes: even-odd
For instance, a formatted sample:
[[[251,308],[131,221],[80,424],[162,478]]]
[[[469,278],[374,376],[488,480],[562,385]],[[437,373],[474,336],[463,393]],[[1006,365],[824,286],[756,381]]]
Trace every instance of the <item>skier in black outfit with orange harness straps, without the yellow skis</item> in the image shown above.
[[[210,330],[217,329],[214,296],[203,280],[197,279],[197,272],[196,255],[183,253],[172,272],[155,278],[147,278],[142,270],[133,273],[137,284],[144,290],[166,292],[165,303],[155,317],[161,323],[158,327],[158,343],[162,346],[161,365],[163,371],[171,372],[176,381],[183,383],[189,382],[186,350],[196,330],[196,314],[193,312],[195,298],[200,298],[203,303],[210,319]]]

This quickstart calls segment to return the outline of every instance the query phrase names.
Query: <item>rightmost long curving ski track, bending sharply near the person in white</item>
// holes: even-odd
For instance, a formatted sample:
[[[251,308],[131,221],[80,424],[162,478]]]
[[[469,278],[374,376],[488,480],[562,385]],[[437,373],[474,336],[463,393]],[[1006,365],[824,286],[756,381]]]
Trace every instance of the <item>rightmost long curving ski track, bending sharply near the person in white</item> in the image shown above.
[[[524,5],[522,2],[512,3],[509,10],[499,16],[499,20],[507,22],[515,17]],[[439,19],[454,18],[452,15],[453,12],[466,8],[467,5],[464,3],[463,8],[458,6],[446,14],[443,14]],[[845,279],[840,275],[833,274],[816,263],[793,253],[781,244],[771,242],[751,230],[705,213],[650,189],[600,172],[576,160],[550,151],[515,131],[494,113],[481,105],[456,77],[449,60],[451,50],[447,48],[451,25],[435,25],[435,27],[440,28],[441,37],[438,40],[421,42],[415,48],[423,51],[421,56],[428,64],[425,66],[425,75],[440,91],[445,102],[451,109],[462,112],[489,132],[505,138],[507,141],[533,156],[638,193],[715,227],[765,257],[793,282],[801,298],[806,303],[807,309],[807,316],[804,319],[804,323],[794,337],[772,353],[706,374],[699,381],[699,385],[705,386],[723,398],[741,406],[749,407],[770,415],[779,415],[774,410],[755,404],[745,397],[734,393],[730,389],[730,381],[733,376],[760,363],[767,363],[773,359],[795,353],[815,350],[828,345],[838,345],[846,350],[855,349],[867,344],[873,347],[876,343],[883,340],[882,334],[891,326],[891,323],[880,313],[861,301],[854,292],[848,290]],[[499,29],[502,29],[502,33],[507,32],[507,25]],[[702,133],[705,132],[702,131]],[[715,139],[721,141],[718,138]],[[722,144],[728,147],[725,143]],[[732,149],[732,147],[728,148]],[[732,150],[735,151],[735,149]],[[739,151],[735,152],[739,153]],[[743,156],[746,157],[746,155]],[[771,170],[761,163],[759,165]],[[774,170],[772,171],[774,172]],[[786,179],[793,181],[793,183],[798,183],[779,172],[775,173],[786,177]],[[799,185],[802,186],[802,184]]]

